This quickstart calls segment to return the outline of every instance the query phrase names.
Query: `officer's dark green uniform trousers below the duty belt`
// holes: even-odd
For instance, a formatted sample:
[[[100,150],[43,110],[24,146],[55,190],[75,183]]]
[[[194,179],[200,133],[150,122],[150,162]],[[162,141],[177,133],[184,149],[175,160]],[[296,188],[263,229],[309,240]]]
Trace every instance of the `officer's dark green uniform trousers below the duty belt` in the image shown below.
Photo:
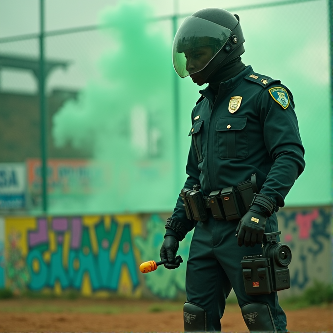
[[[239,220],[197,222],[190,245],[186,271],[187,300],[207,311],[207,330],[221,331],[226,298],[233,288],[238,305],[261,302],[268,304],[278,331],[286,330],[286,316],[277,292],[247,295],[240,261],[244,256],[262,254],[262,245],[238,246],[235,236]],[[267,218],[265,232],[278,231],[276,214]],[[250,324],[251,325],[251,324]],[[251,329],[250,329],[251,330]]]

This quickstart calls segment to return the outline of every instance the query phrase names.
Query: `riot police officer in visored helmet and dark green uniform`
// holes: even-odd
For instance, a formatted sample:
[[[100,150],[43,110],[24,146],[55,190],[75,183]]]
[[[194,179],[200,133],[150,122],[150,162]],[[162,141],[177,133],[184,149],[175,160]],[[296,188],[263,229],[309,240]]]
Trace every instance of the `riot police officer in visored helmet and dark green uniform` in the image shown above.
[[[242,63],[243,43],[238,15],[217,8],[186,18],[173,42],[178,75],[190,76],[199,86],[208,83],[191,114],[184,185],[202,194],[205,211],[192,198],[200,206],[199,218],[187,212],[183,191],[166,222],[160,251],[166,268],[177,268],[179,241],[195,228],[187,262],[185,331],[221,331],[232,288],[250,331],[286,331],[277,292],[246,294],[240,261],[262,253],[264,232],[278,231],[276,212],[304,170],[304,148],[291,92],[280,80]],[[250,203],[243,197],[242,190],[249,188],[244,184],[251,184]],[[216,206],[220,213],[210,206],[213,197],[225,200]]]

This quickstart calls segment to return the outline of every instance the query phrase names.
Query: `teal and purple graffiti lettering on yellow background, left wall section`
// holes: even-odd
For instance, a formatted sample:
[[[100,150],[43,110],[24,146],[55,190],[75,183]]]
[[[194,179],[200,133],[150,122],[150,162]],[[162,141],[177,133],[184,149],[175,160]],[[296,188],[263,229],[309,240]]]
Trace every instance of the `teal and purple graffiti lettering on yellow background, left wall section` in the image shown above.
[[[5,232],[6,285],[12,288],[140,296],[136,215],[6,218]]]

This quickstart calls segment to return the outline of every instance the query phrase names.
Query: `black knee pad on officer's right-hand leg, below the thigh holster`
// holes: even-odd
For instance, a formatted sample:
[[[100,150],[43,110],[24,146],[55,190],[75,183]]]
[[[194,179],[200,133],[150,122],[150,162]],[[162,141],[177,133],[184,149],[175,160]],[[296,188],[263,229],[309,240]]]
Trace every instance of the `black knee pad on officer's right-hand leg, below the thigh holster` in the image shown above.
[[[245,324],[250,332],[277,332],[272,313],[265,303],[248,303],[241,308]]]

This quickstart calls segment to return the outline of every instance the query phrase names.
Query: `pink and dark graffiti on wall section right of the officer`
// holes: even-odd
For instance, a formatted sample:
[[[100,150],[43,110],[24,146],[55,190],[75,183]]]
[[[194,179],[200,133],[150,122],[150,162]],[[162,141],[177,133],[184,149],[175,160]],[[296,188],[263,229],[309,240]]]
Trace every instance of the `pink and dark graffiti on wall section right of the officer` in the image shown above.
[[[332,282],[331,218],[329,208],[279,211],[281,241],[292,251],[289,293],[304,290],[314,280]]]

